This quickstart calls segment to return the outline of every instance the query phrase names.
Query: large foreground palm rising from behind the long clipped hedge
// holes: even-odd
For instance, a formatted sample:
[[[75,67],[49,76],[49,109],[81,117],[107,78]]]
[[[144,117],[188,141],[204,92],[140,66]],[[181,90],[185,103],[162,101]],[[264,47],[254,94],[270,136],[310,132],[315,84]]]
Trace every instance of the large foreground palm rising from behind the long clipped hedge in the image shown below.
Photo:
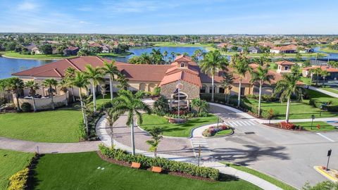
[[[127,113],[126,124],[130,126],[130,134],[132,140],[132,155],[135,155],[135,142],[134,142],[134,115],[137,116],[138,124],[142,124],[142,111],[150,114],[151,109],[141,99],[143,96],[142,91],[138,91],[136,94],[132,94],[131,91],[120,90],[118,91],[118,97],[115,98],[113,112],[118,115]]]

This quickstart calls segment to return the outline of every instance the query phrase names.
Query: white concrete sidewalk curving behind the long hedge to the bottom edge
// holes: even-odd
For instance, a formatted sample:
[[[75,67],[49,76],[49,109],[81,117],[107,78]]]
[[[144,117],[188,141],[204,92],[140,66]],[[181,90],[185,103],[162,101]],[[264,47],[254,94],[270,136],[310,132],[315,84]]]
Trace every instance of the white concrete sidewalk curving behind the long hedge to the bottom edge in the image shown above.
[[[111,146],[111,137],[110,137],[108,130],[110,129],[109,127],[106,126],[106,118],[102,117],[99,120],[99,122],[97,122],[96,124],[96,134],[99,137],[99,139],[101,139],[103,144],[105,144],[106,146]],[[118,141],[115,141],[115,140],[113,141],[113,144],[115,145],[115,148],[120,148],[125,151],[131,152],[130,146],[125,146],[124,144],[120,144]],[[136,149],[136,153],[143,154],[144,156],[149,156],[149,157],[154,158],[154,153],[149,153],[147,151],[141,151],[141,150]],[[168,158],[170,160],[176,160],[176,161],[187,162],[187,163],[192,163],[192,164],[196,164],[197,162],[196,158],[174,156],[174,155],[168,155],[168,154],[163,154],[163,153],[158,153],[158,157]],[[238,177],[247,182],[250,182],[251,184],[255,184],[256,186],[259,186],[261,189],[280,190],[278,186],[275,186],[274,184],[271,184],[270,182],[267,182],[264,179],[261,179],[259,177],[256,177],[246,172],[236,170],[232,167],[227,167],[226,165],[223,165],[215,161],[212,161],[212,162],[202,161],[201,165],[205,167],[213,167],[217,170],[220,170],[220,172],[222,172],[223,174]]]

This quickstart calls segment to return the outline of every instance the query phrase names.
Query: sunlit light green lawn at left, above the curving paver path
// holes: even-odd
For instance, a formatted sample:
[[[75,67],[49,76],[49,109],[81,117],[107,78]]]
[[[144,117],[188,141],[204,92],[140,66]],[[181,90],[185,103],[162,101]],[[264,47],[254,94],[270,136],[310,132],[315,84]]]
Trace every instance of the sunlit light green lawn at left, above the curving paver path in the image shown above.
[[[80,110],[0,114],[0,136],[40,142],[77,142]]]

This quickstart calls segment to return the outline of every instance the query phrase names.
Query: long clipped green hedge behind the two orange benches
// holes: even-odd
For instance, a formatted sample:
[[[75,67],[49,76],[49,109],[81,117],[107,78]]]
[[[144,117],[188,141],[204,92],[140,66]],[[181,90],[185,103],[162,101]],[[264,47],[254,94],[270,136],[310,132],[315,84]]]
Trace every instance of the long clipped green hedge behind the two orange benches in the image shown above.
[[[141,163],[142,167],[158,166],[163,170],[169,170],[170,172],[182,172],[193,176],[206,177],[213,180],[218,180],[220,172],[210,167],[199,167],[190,163],[176,162],[174,160],[168,160],[165,158],[150,158],[143,155],[132,156],[132,154],[126,151],[109,148],[102,144],[99,145],[101,153],[115,160],[122,160],[127,163]]]

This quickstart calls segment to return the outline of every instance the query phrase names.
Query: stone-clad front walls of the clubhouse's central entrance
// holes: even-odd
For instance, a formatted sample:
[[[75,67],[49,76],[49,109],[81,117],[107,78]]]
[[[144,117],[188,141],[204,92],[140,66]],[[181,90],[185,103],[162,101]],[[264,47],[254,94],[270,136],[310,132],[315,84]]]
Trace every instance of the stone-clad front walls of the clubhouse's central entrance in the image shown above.
[[[187,99],[199,99],[199,86],[185,81],[181,81],[181,84],[183,84],[183,88],[180,90],[180,92],[187,94]],[[177,82],[171,82],[161,86],[161,95],[166,99],[171,99],[171,95],[175,91],[176,85]]]

